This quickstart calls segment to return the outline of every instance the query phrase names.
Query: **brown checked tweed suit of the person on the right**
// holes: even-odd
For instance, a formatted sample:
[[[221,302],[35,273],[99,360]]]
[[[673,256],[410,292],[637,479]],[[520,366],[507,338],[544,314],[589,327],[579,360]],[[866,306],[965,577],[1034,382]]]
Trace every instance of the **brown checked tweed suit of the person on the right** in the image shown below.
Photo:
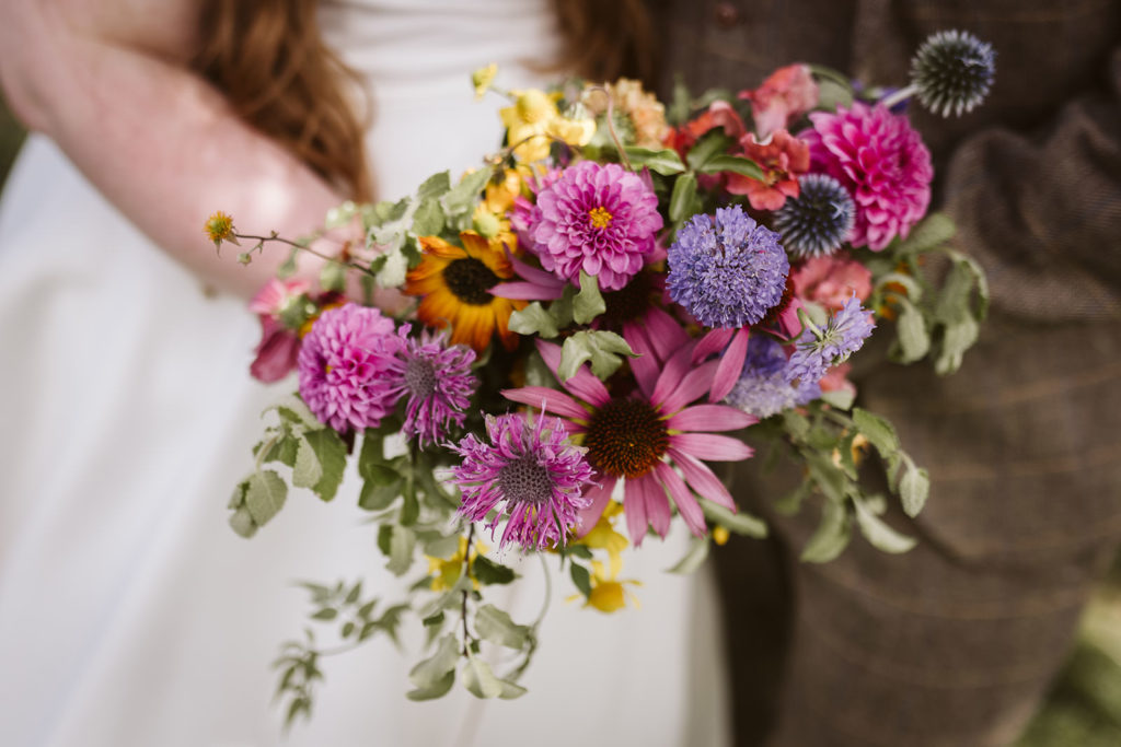
[[[861,404],[930,469],[918,548],[860,539],[797,562],[817,520],[769,508],[797,475],[735,474],[775,525],[717,553],[736,744],[1002,745],[1062,663],[1121,540],[1121,1],[658,0],[669,73],[754,87],[805,60],[906,82],[928,34],[991,41],[998,76],[961,119],[915,114],[936,203],[991,281],[962,371],[877,363]],[[863,356],[874,357],[873,352]],[[784,480],[787,480],[786,483]]]

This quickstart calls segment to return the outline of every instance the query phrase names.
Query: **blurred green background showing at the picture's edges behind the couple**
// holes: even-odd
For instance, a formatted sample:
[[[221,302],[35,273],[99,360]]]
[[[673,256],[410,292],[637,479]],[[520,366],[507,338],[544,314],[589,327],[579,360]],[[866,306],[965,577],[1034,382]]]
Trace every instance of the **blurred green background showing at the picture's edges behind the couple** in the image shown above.
[[[0,185],[25,132],[0,100]],[[1086,609],[1066,667],[1018,747],[1121,745],[1121,563]],[[964,746],[963,746],[964,747]]]

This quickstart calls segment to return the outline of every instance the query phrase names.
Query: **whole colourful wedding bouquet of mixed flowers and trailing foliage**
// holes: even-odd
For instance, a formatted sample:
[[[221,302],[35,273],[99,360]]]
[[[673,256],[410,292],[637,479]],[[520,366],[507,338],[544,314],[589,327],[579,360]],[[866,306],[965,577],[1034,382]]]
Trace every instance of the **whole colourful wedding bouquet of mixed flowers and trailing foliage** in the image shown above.
[[[356,460],[387,567],[415,582],[393,604],[360,581],[307,583],[311,616],[337,628],[332,651],[396,639],[416,617],[432,653],[411,671],[415,700],[457,678],[481,698],[525,692],[540,619],[515,622],[488,595],[518,582],[510,553],[540,555],[610,613],[628,604],[628,544],[682,522],[693,545],[671,570],[687,572],[730,532],[763,536],[711,464],[752,457],[749,441],[803,467],[780,510],[821,496],[804,560],[836,557],[853,529],[908,550],[880,517],[886,496],[861,487],[862,456],[879,455],[908,515],[929,478],[889,422],[853,407],[847,360],[886,327],[895,361],[945,374],[976,338],[984,277],[947,246],[951,221],[927,215],[930,155],[905,109],[971,110],[993,56],[941,32],[900,90],[799,64],[736,95],[678,86],[668,106],[628,80],[501,91],[478,71],[480,96],[509,100],[504,147],[454,185],[437,174],[399,202],[342,205],[326,228],[360,222],[376,253],[344,249],[313,290],[286,277],[308,241],[287,242],[253,299],[252,373],[296,370],[299,391],[269,414],[234,531],[267,524],[289,485],[331,501]],[[206,231],[257,240],[242,262],[286,241],[222,213]],[[343,295],[349,276],[363,292]],[[377,288],[410,302],[390,315]],[[491,647],[515,663],[497,672]],[[311,629],[285,645],[289,720],[309,715],[325,653]]]

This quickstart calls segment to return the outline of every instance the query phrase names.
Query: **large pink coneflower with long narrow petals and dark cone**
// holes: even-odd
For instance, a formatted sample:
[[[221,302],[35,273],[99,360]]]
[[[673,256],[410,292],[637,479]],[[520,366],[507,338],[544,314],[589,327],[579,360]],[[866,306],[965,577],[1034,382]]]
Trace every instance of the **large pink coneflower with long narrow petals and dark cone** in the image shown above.
[[[739,461],[751,456],[743,441],[707,431],[738,430],[756,418],[721,404],[689,407],[708,393],[717,365],[716,361],[694,365],[692,345],[663,362],[643,335],[631,335],[627,342],[639,354],[631,361],[636,392],[612,394],[585,364],[562,383],[566,392],[522,386],[503,394],[515,402],[544,407],[567,419],[569,431],[583,433],[587,461],[595,470],[593,479],[599,483],[587,492],[592,503],[583,512],[585,530],[595,524],[615,484],[623,480],[623,512],[634,544],[642,542],[648,525],[661,536],[669,531],[667,493],[689,530],[701,535],[704,514],[694,492],[735,511],[728,488],[702,459]],[[537,349],[556,371],[560,348],[538,340]]]

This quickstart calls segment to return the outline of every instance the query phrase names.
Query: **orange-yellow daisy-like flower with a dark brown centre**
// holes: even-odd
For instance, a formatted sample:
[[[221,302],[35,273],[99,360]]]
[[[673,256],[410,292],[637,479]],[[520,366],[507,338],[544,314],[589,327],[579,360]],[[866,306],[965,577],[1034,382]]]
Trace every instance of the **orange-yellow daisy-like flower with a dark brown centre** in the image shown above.
[[[510,314],[526,301],[498,298],[490,289],[513,277],[500,241],[478,233],[460,234],[463,248],[437,236],[420,236],[424,260],[409,271],[405,292],[421,296],[417,318],[429,327],[452,327],[451,343],[482,353],[498,329],[502,345],[512,351],[518,334],[510,332]]]

